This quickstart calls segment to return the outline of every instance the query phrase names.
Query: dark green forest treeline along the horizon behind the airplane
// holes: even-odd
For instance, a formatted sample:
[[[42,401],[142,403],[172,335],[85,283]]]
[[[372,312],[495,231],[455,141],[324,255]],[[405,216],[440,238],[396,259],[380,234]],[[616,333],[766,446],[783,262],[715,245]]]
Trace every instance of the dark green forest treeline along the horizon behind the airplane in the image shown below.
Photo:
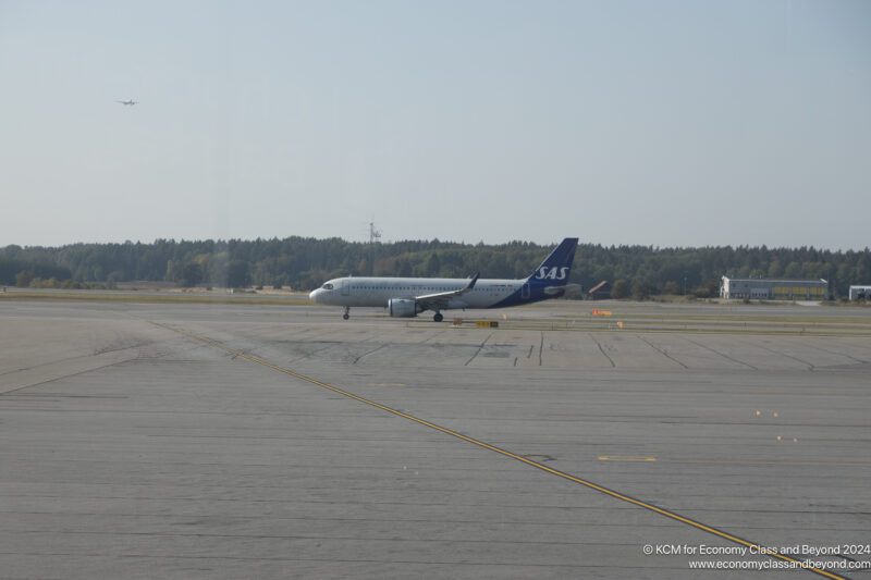
[[[72,277],[112,285],[163,281],[182,286],[272,285],[308,291],[341,275],[524,277],[553,246],[527,242],[486,246],[431,242],[366,243],[341,238],[287,237],[255,240],[157,239],[152,244],[73,244],[57,248],[0,248],[0,282],[13,284],[22,270],[40,277]],[[49,271],[54,268],[57,270]],[[836,296],[850,284],[871,283],[871,250],[813,247],[601,246],[581,244],[571,282],[590,288],[623,281],[640,295],[715,294],[720,276],[826,279]],[[10,277],[11,276],[11,277]]]

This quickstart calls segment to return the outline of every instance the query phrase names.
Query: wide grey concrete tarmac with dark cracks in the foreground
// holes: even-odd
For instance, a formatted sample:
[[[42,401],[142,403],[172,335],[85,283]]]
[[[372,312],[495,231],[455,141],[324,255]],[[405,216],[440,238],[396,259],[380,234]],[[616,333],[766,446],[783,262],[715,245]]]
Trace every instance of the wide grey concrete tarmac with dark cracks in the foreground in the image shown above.
[[[871,578],[868,310],[608,308],[0,301],[0,578]]]

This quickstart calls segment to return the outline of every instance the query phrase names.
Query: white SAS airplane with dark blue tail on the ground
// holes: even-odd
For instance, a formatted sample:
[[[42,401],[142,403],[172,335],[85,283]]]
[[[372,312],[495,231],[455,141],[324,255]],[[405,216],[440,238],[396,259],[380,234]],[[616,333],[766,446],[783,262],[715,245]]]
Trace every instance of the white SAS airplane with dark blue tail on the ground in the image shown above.
[[[578,238],[567,237],[544,258],[526,279],[484,280],[476,273],[469,279],[446,277],[335,277],[311,291],[317,304],[343,306],[348,319],[351,307],[387,307],[391,317],[410,318],[425,310],[441,322],[442,310],[457,308],[505,308],[556,298],[577,284],[568,284]]]

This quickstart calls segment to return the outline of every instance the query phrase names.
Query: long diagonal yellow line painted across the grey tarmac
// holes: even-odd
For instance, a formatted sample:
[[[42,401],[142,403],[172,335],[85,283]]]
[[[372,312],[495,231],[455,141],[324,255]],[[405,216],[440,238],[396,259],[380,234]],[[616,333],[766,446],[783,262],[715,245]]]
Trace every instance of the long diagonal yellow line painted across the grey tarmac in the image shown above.
[[[792,558],[789,556],[784,555],[784,554],[778,554],[777,552],[774,552],[773,550],[771,550],[769,547],[765,547],[762,544],[757,544],[756,542],[750,542],[748,540],[744,540],[741,538],[738,538],[737,535],[733,535],[733,534],[731,534],[728,532],[724,532],[722,530],[717,530],[716,528],[713,528],[713,527],[708,526],[706,523],[702,523],[700,521],[696,521],[694,519],[687,518],[687,517],[682,516],[679,514],[676,514],[674,511],[670,511],[668,509],[664,509],[662,507],[657,507],[653,504],[649,504],[647,502],[642,502],[641,499],[636,499],[635,497],[631,497],[629,495],[619,493],[619,492],[614,491],[614,490],[610,490],[610,489],[608,489],[608,488],[605,488],[603,485],[599,485],[598,483],[593,483],[591,481],[587,481],[585,479],[575,477],[575,476],[573,476],[571,473],[566,473],[565,471],[560,471],[559,469],[553,469],[552,467],[548,467],[548,466],[545,466],[543,464],[539,464],[538,461],[533,461],[533,460],[528,459],[528,458],[526,458],[526,457],[524,457],[522,455],[517,455],[517,454],[512,453],[510,451],[502,449],[502,448],[496,447],[494,445],[490,445],[489,443],[484,443],[483,441],[469,437],[469,436],[464,435],[462,433],[457,433],[456,431],[452,431],[452,430],[446,429],[444,427],[437,425],[436,423],[431,423],[431,422],[429,422],[429,421],[427,421],[425,419],[420,419],[418,417],[415,417],[414,415],[408,415],[407,412],[403,412],[401,410],[388,407],[385,405],[381,405],[380,403],[376,403],[375,400],[370,400],[368,398],[360,397],[358,395],[355,395],[354,393],[349,393],[347,391],[339,388],[338,386],[333,386],[333,385],[329,385],[327,383],[322,383],[322,382],[318,381],[317,379],[312,379],[310,377],[306,377],[305,374],[299,374],[298,372],[294,372],[294,371],[292,371],[290,369],[285,369],[283,367],[277,366],[277,365],[272,365],[271,362],[267,362],[266,360],[259,359],[259,358],[254,357],[252,355],[247,355],[247,354],[242,353],[240,350],[234,350],[233,348],[224,346],[224,345],[222,345],[220,343],[216,343],[214,341],[210,341],[208,338],[204,338],[201,336],[197,336],[196,334],[191,334],[188,332],[175,329],[175,328],[167,325],[167,324],[162,324],[160,322],[154,322],[154,321],[150,321],[150,322],[151,322],[151,324],[155,324],[156,326],[160,326],[161,329],[165,329],[165,330],[174,332],[176,334],[181,334],[183,336],[187,336],[188,338],[193,338],[195,341],[199,341],[201,343],[208,344],[208,345],[213,346],[216,348],[220,348],[221,350],[223,350],[225,353],[229,353],[231,355],[234,355],[234,356],[250,360],[252,362],[257,362],[258,365],[262,365],[265,367],[269,367],[270,369],[277,370],[279,372],[283,372],[285,374],[290,374],[291,377],[294,377],[294,378],[299,379],[302,381],[306,381],[308,383],[316,384],[318,386],[321,386],[323,388],[332,391],[333,393],[338,393],[340,395],[343,395],[345,397],[352,398],[354,400],[358,400],[360,403],[365,403],[366,405],[370,405],[370,406],[376,407],[378,409],[381,409],[383,411],[393,414],[393,415],[402,417],[404,419],[408,419],[409,421],[414,421],[415,423],[428,427],[430,429],[434,429],[436,431],[440,431],[440,432],[442,432],[442,433],[444,433],[446,435],[451,435],[453,437],[463,440],[463,441],[465,441],[467,443],[471,443],[473,445],[477,445],[479,447],[482,447],[484,449],[491,451],[493,453],[498,453],[498,454],[503,455],[505,457],[511,457],[512,459],[515,459],[515,460],[524,462],[524,464],[526,464],[528,466],[535,467],[536,469],[540,469],[541,471],[545,471],[545,472],[548,472],[548,473],[550,473],[552,476],[556,476],[559,478],[566,479],[566,480],[572,481],[574,483],[578,483],[580,485],[585,485],[585,486],[587,486],[587,488],[589,488],[591,490],[596,490],[596,491],[601,492],[601,493],[603,493],[605,495],[610,495],[611,497],[615,497],[617,499],[622,499],[624,502],[627,502],[629,504],[636,505],[638,507],[642,507],[642,508],[648,509],[650,511],[655,511],[657,514],[660,514],[661,516],[665,516],[666,518],[671,518],[671,519],[677,520],[677,521],[679,521],[682,523],[686,523],[687,526],[691,526],[691,527],[694,527],[694,528],[696,528],[698,530],[701,530],[701,531],[708,532],[710,534],[716,535],[716,536],[722,538],[723,540],[726,540],[728,542],[733,542],[735,544],[740,544],[740,545],[746,546],[748,548],[752,548],[756,554],[764,554],[764,555],[771,556],[772,558],[776,558],[776,559],[781,559],[781,560],[784,560],[784,562],[792,563],[797,568],[801,568],[801,569],[805,569],[805,570],[808,570],[808,571],[811,571],[811,572],[815,572],[815,573],[818,573],[820,576],[823,576],[825,578],[833,578],[833,579],[838,579],[838,580],[847,580],[843,576],[838,576],[836,573],[833,573],[833,572],[830,572],[827,570],[823,570],[823,569],[820,569],[820,568],[814,568],[813,566],[810,566],[807,563],[801,562],[799,559]],[[649,460],[649,459],[646,458],[645,460]]]

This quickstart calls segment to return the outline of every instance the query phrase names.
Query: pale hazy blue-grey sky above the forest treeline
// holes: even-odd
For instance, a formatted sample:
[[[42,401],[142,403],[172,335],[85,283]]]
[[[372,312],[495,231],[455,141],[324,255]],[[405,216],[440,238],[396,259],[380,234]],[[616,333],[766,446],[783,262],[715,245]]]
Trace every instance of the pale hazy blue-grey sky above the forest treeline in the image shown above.
[[[870,202],[867,1],[0,0],[0,246],[846,250]]]

